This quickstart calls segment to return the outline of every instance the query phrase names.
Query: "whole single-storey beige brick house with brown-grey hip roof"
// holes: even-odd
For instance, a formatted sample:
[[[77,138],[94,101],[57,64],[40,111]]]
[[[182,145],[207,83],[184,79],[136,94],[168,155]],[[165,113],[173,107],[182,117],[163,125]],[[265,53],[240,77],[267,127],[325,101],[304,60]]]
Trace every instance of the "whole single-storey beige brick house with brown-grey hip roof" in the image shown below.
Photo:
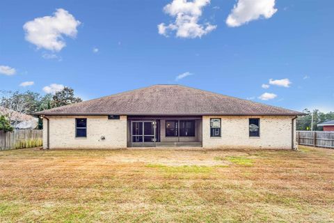
[[[154,85],[36,113],[44,148],[295,148],[289,109]]]

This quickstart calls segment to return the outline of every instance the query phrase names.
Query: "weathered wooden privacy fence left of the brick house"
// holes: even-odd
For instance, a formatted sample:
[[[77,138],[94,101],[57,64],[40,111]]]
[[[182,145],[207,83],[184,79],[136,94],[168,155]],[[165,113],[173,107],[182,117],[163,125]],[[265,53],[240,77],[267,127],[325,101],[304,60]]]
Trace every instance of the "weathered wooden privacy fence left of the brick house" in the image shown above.
[[[0,151],[42,146],[43,130],[0,131]]]

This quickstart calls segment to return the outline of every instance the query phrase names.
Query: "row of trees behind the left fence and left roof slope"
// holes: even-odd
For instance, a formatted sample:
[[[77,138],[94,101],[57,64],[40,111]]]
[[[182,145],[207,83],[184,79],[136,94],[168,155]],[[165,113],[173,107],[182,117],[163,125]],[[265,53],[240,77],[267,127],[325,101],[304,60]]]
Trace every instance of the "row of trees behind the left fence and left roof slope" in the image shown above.
[[[75,97],[74,90],[70,87],[65,87],[54,94],[48,93],[46,95],[40,95],[40,93],[33,91],[24,93],[19,91],[0,91],[0,130],[13,130],[10,127],[10,124],[13,125],[16,122],[13,111],[22,114],[33,114],[77,102],[82,102],[82,99]],[[42,128],[41,120],[38,123],[38,128]]]

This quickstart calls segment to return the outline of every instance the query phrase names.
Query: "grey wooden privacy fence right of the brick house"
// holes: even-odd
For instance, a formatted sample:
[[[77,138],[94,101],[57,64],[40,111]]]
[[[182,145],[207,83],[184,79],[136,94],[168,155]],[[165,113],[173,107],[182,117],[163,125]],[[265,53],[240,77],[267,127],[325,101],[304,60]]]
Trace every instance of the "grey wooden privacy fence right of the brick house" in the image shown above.
[[[297,131],[299,145],[334,148],[334,132]]]

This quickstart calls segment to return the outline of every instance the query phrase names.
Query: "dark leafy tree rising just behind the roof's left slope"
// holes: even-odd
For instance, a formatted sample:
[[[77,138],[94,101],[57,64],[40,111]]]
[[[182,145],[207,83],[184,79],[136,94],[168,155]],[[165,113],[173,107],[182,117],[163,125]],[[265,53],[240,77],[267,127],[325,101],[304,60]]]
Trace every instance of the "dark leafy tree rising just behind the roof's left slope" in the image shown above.
[[[57,91],[53,98],[53,107],[70,105],[77,102],[82,102],[81,98],[74,97],[74,90],[65,86],[61,91]]]

